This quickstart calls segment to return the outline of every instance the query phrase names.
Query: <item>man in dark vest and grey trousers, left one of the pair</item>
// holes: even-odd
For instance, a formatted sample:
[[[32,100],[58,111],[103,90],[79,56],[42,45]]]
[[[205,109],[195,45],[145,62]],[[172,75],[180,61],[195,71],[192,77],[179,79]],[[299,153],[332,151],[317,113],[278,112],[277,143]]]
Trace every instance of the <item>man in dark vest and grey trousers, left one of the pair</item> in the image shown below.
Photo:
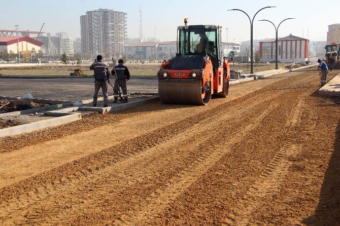
[[[97,56],[95,62],[90,66],[90,70],[94,70],[93,106],[97,106],[98,91],[101,88],[104,96],[104,107],[107,107],[109,104],[108,83],[110,83],[110,71],[108,65],[103,62],[101,55]]]

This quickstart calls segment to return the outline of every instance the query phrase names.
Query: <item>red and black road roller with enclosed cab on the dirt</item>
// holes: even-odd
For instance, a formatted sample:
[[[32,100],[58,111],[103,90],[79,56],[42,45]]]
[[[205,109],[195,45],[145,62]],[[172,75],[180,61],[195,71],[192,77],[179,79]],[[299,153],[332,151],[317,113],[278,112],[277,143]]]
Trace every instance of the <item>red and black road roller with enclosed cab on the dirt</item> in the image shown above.
[[[187,25],[177,29],[177,53],[158,70],[162,103],[206,105],[211,98],[226,97],[230,67],[223,57],[222,27]]]

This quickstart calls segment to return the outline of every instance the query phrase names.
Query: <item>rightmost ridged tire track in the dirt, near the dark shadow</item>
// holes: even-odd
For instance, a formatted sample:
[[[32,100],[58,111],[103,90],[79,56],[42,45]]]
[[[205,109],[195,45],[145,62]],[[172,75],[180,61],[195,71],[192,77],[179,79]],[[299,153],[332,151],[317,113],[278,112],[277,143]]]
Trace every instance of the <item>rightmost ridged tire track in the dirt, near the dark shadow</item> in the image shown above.
[[[227,225],[248,225],[251,220],[251,213],[259,205],[261,200],[277,193],[280,190],[280,184],[285,179],[288,169],[293,164],[291,157],[296,156],[303,147],[303,140],[296,140],[295,133],[299,131],[301,118],[303,114],[303,96],[299,97],[297,103],[291,110],[286,122],[287,142],[279,150],[269,164],[265,167],[259,178],[254,182],[238,205],[234,207],[233,212],[229,212],[225,218]],[[305,128],[306,130],[312,129]]]

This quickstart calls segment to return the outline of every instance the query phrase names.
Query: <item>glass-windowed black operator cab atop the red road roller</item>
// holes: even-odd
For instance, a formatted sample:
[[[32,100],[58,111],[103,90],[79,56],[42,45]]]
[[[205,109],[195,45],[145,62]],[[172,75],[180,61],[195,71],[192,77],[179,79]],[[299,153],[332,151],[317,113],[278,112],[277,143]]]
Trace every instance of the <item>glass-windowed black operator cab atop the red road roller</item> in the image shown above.
[[[203,58],[208,55],[213,68],[217,69],[223,63],[221,28],[216,25],[179,26],[177,56],[197,56],[196,58],[200,56]]]

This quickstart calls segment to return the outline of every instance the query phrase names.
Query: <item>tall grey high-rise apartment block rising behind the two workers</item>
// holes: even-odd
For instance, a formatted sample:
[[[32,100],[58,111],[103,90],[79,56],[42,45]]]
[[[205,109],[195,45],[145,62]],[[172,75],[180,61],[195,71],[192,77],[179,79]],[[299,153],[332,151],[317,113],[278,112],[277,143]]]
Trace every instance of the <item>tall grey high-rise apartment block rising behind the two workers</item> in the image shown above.
[[[109,9],[88,11],[80,16],[80,26],[83,53],[124,53],[126,13]]]

